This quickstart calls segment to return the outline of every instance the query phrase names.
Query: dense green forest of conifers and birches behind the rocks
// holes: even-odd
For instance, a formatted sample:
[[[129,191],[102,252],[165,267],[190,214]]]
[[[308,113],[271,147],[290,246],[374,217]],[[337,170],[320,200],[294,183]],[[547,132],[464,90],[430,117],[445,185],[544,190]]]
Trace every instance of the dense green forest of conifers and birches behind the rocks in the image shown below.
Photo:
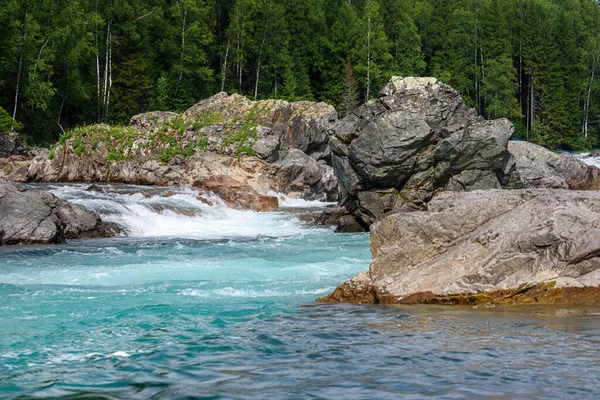
[[[515,136],[600,139],[594,0],[2,0],[0,130],[32,144],[217,92],[325,101],[434,76]]]

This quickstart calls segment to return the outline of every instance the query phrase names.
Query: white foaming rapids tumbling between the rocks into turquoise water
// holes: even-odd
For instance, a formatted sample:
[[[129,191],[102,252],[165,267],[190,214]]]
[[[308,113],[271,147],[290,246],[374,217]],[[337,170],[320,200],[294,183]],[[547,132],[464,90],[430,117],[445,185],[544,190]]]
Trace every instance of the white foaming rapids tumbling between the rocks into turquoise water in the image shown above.
[[[103,221],[123,227],[131,237],[200,240],[287,237],[323,232],[288,212],[258,213],[234,210],[217,196],[188,186],[149,188],[103,185],[46,185],[57,197],[96,211]],[[307,202],[277,194],[282,209],[322,209],[329,203]]]

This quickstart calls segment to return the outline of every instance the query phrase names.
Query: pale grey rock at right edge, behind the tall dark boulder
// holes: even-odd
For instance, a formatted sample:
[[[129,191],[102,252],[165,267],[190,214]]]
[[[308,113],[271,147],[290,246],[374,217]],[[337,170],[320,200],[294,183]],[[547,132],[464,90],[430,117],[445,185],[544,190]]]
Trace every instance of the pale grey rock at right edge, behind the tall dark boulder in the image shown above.
[[[555,154],[523,141],[510,141],[508,150],[516,161],[513,187],[600,189],[600,170],[575,156]]]

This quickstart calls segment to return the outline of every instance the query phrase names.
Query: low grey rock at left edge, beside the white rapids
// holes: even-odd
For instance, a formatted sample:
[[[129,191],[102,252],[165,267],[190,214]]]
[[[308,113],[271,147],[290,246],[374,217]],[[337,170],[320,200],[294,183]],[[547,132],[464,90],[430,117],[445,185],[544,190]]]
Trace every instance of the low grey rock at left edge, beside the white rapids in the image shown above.
[[[0,182],[0,245],[62,243],[115,236],[119,231],[103,224],[95,213],[49,192]]]

